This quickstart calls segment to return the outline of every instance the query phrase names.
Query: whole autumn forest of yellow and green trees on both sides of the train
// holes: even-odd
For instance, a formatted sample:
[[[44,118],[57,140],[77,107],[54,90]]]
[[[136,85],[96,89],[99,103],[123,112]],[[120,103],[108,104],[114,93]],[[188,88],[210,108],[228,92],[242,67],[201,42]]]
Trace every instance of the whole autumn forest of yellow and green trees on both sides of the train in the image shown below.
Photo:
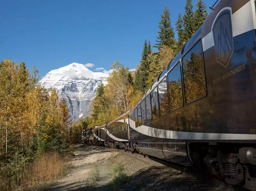
[[[195,11],[192,1],[187,0],[184,15],[179,14],[172,25],[170,11],[165,6],[153,46],[158,51],[153,52],[150,41],[145,40],[135,71],[116,61],[111,66],[113,72],[107,78],[108,84],[100,84],[97,89],[92,112],[73,123],[65,100],[59,100],[55,90],[46,90],[38,83],[39,72],[35,67],[29,72],[24,62],[10,59],[0,62],[0,189],[17,189],[24,170],[36,158],[52,151],[67,152],[69,143],[81,141],[83,129],[105,124],[131,109],[206,16],[202,0],[196,2]]]

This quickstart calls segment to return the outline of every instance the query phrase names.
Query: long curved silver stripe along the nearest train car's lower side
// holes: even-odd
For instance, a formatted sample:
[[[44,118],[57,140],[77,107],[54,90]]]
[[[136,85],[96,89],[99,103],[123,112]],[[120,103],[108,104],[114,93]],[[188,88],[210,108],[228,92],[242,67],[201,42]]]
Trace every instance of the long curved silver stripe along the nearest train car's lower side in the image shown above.
[[[165,138],[165,139],[187,139],[187,140],[255,140],[256,135],[251,134],[228,134],[228,133],[196,133],[156,129],[141,125],[135,127],[135,122],[130,119],[131,128],[141,134]]]

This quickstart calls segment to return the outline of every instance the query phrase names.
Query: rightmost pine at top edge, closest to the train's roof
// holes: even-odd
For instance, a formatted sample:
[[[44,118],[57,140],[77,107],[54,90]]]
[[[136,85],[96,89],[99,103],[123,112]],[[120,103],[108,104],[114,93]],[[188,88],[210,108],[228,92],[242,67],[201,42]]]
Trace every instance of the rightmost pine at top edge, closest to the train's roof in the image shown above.
[[[197,0],[196,7],[197,9],[194,12],[194,22],[193,22],[194,33],[204,23],[204,20],[207,17],[207,9],[206,9],[206,5],[203,3],[203,0]]]

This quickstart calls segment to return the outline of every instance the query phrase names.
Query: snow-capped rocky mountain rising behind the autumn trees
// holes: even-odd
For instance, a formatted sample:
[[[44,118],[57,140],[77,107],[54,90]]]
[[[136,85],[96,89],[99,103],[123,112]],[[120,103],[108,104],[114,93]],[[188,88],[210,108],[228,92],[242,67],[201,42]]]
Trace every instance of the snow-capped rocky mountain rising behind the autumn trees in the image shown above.
[[[107,77],[106,73],[92,72],[83,64],[73,62],[51,70],[40,83],[47,89],[56,89],[59,99],[66,100],[73,121],[78,121],[89,114],[96,90],[101,82],[107,84]]]

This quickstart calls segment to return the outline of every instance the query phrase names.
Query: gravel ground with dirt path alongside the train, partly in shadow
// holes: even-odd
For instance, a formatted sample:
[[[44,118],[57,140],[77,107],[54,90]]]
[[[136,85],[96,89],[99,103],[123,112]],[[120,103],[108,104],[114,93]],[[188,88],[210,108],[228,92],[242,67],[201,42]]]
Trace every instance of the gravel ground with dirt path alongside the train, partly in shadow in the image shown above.
[[[70,162],[73,169],[68,176],[48,190],[66,191],[112,191],[112,164],[118,162],[124,167],[127,181],[115,190],[122,191],[207,191],[221,190],[142,155],[131,154],[104,147],[76,145],[75,156]],[[97,167],[96,175],[93,169]],[[95,174],[95,173],[94,173]]]

